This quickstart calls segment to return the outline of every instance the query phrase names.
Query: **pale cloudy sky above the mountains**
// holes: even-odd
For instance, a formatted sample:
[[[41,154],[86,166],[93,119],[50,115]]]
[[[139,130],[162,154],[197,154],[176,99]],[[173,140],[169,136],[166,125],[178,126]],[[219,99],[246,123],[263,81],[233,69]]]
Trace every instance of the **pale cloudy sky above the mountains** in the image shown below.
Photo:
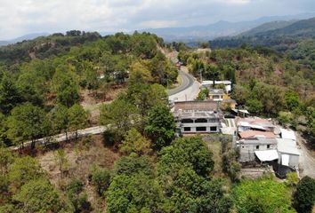
[[[0,40],[31,33],[189,27],[315,12],[315,0],[0,0]]]

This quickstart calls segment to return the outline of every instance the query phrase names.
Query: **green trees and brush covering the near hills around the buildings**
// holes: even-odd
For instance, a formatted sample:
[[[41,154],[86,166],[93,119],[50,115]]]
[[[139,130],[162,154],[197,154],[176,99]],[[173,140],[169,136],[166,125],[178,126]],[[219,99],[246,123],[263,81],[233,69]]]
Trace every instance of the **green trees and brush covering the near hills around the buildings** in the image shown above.
[[[47,49],[34,51],[41,43],[46,43],[43,46],[48,45]],[[71,31],[66,36],[58,34],[0,48],[6,52],[0,57],[0,145],[4,146],[0,147],[0,213],[311,212],[311,177],[298,184],[297,178],[282,184],[271,177],[248,180],[240,177],[238,152],[230,143],[222,143],[222,164],[217,166],[213,150],[201,137],[175,138],[165,86],[176,81],[177,71],[159,51],[163,46],[160,38],[146,33],[102,38]],[[273,61],[272,66],[283,66],[283,73],[292,68],[292,74],[300,72],[293,77],[300,77],[303,83],[311,83],[310,70],[269,51],[220,50],[198,55],[187,51],[182,43],[176,48],[194,75],[200,75],[201,70],[204,78],[237,83],[234,96],[246,106],[255,106],[257,113],[275,115],[279,110],[306,107],[308,126],[314,127],[313,102],[303,97],[303,92],[311,89],[299,91],[301,85],[286,82],[284,74],[280,77],[283,82],[271,83],[275,75],[268,66]],[[14,51],[23,57],[9,57]],[[251,81],[248,76],[257,75],[251,73],[257,62],[268,66],[257,69],[260,81]],[[282,83],[291,88],[284,89]],[[75,153],[76,160],[62,145],[53,151],[51,146],[35,146],[38,138],[49,139],[60,132],[68,136],[69,131],[77,133],[89,126],[89,114],[80,105],[83,93],[88,91],[93,99],[105,101],[116,87],[125,90],[101,105],[99,122],[107,130],[101,146],[96,147],[117,154],[115,162],[110,159],[111,166],[99,163],[109,153],[96,158],[83,154],[95,146],[90,137],[77,138],[76,134],[65,143],[72,146],[67,150]],[[262,101],[263,96],[272,101]],[[28,140],[32,142],[32,156],[6,147]],[[44,170],[47,162],[36,155],[40,149],[53,152],[57,167],[53,172],[57,171],[58,178],[49,168]],[[82,163],[83,156],[95,162]],[[87,169],[77,176],[69,173],[71,163],[78,168],[86,164]],[[222,174],[215,174],[215,165],[222,166]]]

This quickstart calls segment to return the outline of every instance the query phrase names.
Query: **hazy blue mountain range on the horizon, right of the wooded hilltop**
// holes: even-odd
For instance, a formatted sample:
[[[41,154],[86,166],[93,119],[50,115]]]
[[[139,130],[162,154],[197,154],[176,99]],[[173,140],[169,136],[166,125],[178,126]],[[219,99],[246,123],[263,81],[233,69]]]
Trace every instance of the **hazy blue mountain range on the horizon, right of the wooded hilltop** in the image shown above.
[[[243,32],[246,32],[252,28],[256,28],[268,22],[274,22],[272,25],[266,25],[260,28],[282,28],[289,24],[294,23],[296,20],[304,20],[315,17],[313,13],[303,13],[299,15],[287,15],[287,16],[271,16],[263,17],[258,20],[249,21],[218,21],[214,24],[206,26],[193,26],[188,28],[146,28],[139,30],[140,32],[150,32],[163,37],[166,41],[208,41],[216,37],[222,36],[237,36]],[[262,29],[255,29],[258,32]],[[263,29],[264,31],[264,29]]]

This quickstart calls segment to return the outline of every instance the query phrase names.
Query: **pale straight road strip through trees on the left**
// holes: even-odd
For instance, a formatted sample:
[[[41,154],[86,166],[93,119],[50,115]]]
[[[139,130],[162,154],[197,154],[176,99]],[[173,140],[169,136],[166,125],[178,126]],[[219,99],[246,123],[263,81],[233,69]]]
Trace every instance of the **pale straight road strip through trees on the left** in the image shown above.
[[[87,135],[99,135],[102,132],[104,132],[106,130],[106,127],[104,126],[96,126],[96,127],[90,127],[90,128],[86,128],[85,130],[78,130],[77,131],[77,137],[83,137],[83,136],[87,136]],[[68,139],[70,138],[76,138],[76,132],[69,132],[68,133]],[[59,143],[59,142],[63,142],[66,141],[67,137],[66,134],[59,134],[59,135],[55,135],[52,136],[51,138],[40,138],[36,140],[36,144],[45,144],[45,143]],[[24,147],[28,147],[31,146],[32,142],[28,141],[24,143]],[[13,146],[11,147],[12,150],[18,150],[20,148],[20,146]]]

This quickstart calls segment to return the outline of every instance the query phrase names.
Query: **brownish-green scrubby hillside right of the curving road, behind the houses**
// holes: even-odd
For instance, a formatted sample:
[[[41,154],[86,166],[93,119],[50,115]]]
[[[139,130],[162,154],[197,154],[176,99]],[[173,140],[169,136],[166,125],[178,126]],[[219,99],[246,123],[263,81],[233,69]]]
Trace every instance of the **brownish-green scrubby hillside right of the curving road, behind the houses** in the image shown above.
[[[252,114],[279,117],[282,124],[290,123],[295,129],[302,124],[308,135],[315,136],[312,68],[265,47],[243,46],[204,53],[186,50],[179,52],[179,59],[197,78],[202,75],[203,80],[230,80],[232,98]]]

